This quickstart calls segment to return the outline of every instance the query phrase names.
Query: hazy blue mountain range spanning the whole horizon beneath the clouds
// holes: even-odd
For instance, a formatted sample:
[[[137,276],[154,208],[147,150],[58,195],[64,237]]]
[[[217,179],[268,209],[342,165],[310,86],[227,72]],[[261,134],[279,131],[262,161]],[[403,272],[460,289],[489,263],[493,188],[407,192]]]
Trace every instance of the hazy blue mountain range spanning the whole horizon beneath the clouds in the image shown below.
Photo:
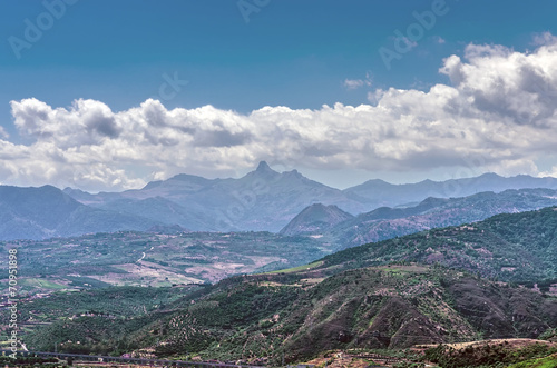
[[[478,210],[476,216],[449,216],[449,218],[455,218],[453,222],[436,221],[429,218],[407,226],[404,221],[397,221],[397,219],[410,216],[431,217],[432,207],[442,207],[446,215],[449,212],[448,207],[451,206],[453,212],[458,212],[459,206],[466,209],[465,207],[468,206],[466,201],[450,205],[440,200],[456,197],[455,193],[470,196],[492,191],[497,195],[509,189],[557,189],[557,179],[528,176],[504,178],[495,173],[486,173],[477,178],[442,182],[426,180],[409,185],[391,185],[381,180],[371,180],[356,187],[339,190],[307,179],[296,170],[274,171],[262,161],[256,170],[240,179],[206,179],[177,175],[167,180],[149,182],[141,189],[123,192],[89,193],[71,188],[60,191],[51,186],[41,188],[2,186],[0,188],[0,206],[3,210],[0,240],[43,239],[118,230],[145,231],[152,228],[176,226],[190,231],[278,232],[283,230],[286,231],[285,233],[299,233],[295,226],[292,225],[287,229],[285,227],[299,215],[301,216],[296,220],[299,226],[306,226],[307,223],[303,223],[303,218],[307,218],[309,215],[301,212],[305,211],[309,206],[320,203],[329,208],[328,216],[334,219],[323,218],[321,225],[316,225],[317,228],[334,227],[335,230],[331,230],[334,232],[333,239],[336,239],[335,241],[342,239],[343,246],[353,246],[381,240],[393,235],[400,236],[441,225],[452,225],[461,220],[480,220],[501,211],[530,210],[550,206],[553,205],[550,201],[522,206],[520,199],[517,199],[517,203],[494,205],[491,210],[483,212]],[[431,196],[437,199],[428,199]],[[25,198],[25,200],[18,198]],[[319,208],[313,208],[310,213]],[[467,210],[469,209],[468,207]],[[382,213],[387,217],[382,218]],[[440,211],[437,213],[441,219]],[[351,216],[355,218],[351,219]],[[378,225],[379,219],[391,222]],[[371,232],[377,232],[378,236],[370,235],[369,231],[365,235],[360,230],[355,232],[349,230],[349,228],[355,229],[355,226],[360,229],[359,223],[362,221],[365,222],[365,228],[372,225],[371,227],[375,230]],[[349,228],[342,229],[349,223]],[[383,227],[388,229],[382,230]],[[315,225],[310,228],[315,228]],[[310,228],[304,231],[307,232]],[[393,232],[390,228],[400,229],[400,231]],[[346,231],[349,235],[341,235]],[[349,237],[352,238],[344,240]]]

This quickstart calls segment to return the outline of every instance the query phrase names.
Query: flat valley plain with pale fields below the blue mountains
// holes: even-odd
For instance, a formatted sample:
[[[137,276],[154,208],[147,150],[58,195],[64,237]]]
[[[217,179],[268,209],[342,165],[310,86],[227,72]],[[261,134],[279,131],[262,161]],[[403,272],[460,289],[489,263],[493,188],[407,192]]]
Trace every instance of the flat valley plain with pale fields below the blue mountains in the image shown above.
[[[270,232],[121,231],[76,238],[0,242],[19,249],[19,287],[35,295],[108,286],[169,287],[216,282],[255,271],[297,267],[331,251],[312,238]],[[329,248],[328,248],[329,247]],[[8,252],[0,252],[7,261]],[[0,288],[7,288],[7,280]]]

